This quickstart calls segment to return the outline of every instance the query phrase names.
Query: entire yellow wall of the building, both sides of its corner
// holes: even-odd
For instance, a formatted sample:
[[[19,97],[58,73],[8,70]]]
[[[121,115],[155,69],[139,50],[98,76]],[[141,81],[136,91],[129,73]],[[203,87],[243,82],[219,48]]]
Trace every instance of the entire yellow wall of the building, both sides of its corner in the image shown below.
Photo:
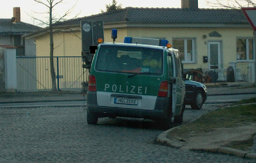
[[[209,37],[209,33],[217,31],[221,37]],[[203,38],[206,35],[207,38]],[[236,39],[238,37],[253,37],[251,28],[149,28],[127,27],[117,28],[116,42],[123,42],[124,37],[151,37],[164,38],[172,44],[173,39],[195,39],[195,63],[185,63],[184,68],[208,68],[203,63],[203,56],[208,56],[208,42],[221,41],[221,55],[223,68],[229,66],[228,62],[236,61]],[[54,56],[81,56],[81,32],[54,33]],[[111,29],[104,29],[104,41],[112,42]],[[36,56],[49,56],[49,35],[36,38]],[[209,62],[209,60],[208,60]]]

